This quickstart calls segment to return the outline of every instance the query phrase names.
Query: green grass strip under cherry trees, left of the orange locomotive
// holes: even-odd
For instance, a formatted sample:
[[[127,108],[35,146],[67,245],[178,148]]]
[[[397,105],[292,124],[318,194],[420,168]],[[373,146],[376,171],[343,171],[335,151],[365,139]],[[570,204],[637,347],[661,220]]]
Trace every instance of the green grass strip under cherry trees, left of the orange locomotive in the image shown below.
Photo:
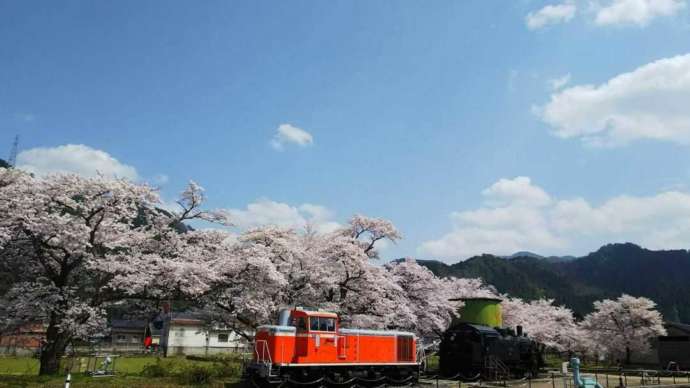
[[[84,363],[86,361],[84,360]],[[65,359],[64,370],[72,366],[72,387],[158,388],[198,385],[232,387],[239,385],[240,360],[216,358],[210,361],[184,357],[117,357],[114,377],[90,377],[83,373],[78,358]],[[82,367],[82,372],[77,370]],[[38,360],[29,357],[0,357],[0,387],[64,387],[65,376],[38,376]],[[201,381],[201,383],[199,383]]]

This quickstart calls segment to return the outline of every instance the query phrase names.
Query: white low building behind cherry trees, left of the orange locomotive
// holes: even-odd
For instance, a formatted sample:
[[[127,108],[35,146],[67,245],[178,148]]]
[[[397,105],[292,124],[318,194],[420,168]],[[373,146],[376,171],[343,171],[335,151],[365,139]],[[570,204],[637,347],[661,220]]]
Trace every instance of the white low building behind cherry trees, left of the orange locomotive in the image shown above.
[[[249,344],[242,336],[226,328],[208,328],[189,314],[166,317],[160,346],[166,356],[212,355],[243,352]]]

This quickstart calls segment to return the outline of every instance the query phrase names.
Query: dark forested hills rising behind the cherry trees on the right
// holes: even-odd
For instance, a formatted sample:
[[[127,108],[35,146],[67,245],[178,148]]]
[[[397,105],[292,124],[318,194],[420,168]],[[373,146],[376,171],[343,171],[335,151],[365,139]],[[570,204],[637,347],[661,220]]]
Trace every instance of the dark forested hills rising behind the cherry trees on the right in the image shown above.
[[[418,262],[438,276],[480,277],[521,298],[554,298],[577,315],[590,312],[595,300],[627,293],[657,302],[667,320],[690,322],[687,250],[652,251],[627,243],[605,245],[579,258],[517,254],[475,256],[452,265]]]

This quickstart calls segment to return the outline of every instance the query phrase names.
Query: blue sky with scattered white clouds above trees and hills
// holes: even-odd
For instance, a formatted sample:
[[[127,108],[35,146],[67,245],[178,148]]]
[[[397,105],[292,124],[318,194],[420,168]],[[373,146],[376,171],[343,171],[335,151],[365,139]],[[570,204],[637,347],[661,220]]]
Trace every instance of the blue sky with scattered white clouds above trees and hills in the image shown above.
[[[0,1],[0,152],[385,258],[686,248],[690,4],[640,1]]]

